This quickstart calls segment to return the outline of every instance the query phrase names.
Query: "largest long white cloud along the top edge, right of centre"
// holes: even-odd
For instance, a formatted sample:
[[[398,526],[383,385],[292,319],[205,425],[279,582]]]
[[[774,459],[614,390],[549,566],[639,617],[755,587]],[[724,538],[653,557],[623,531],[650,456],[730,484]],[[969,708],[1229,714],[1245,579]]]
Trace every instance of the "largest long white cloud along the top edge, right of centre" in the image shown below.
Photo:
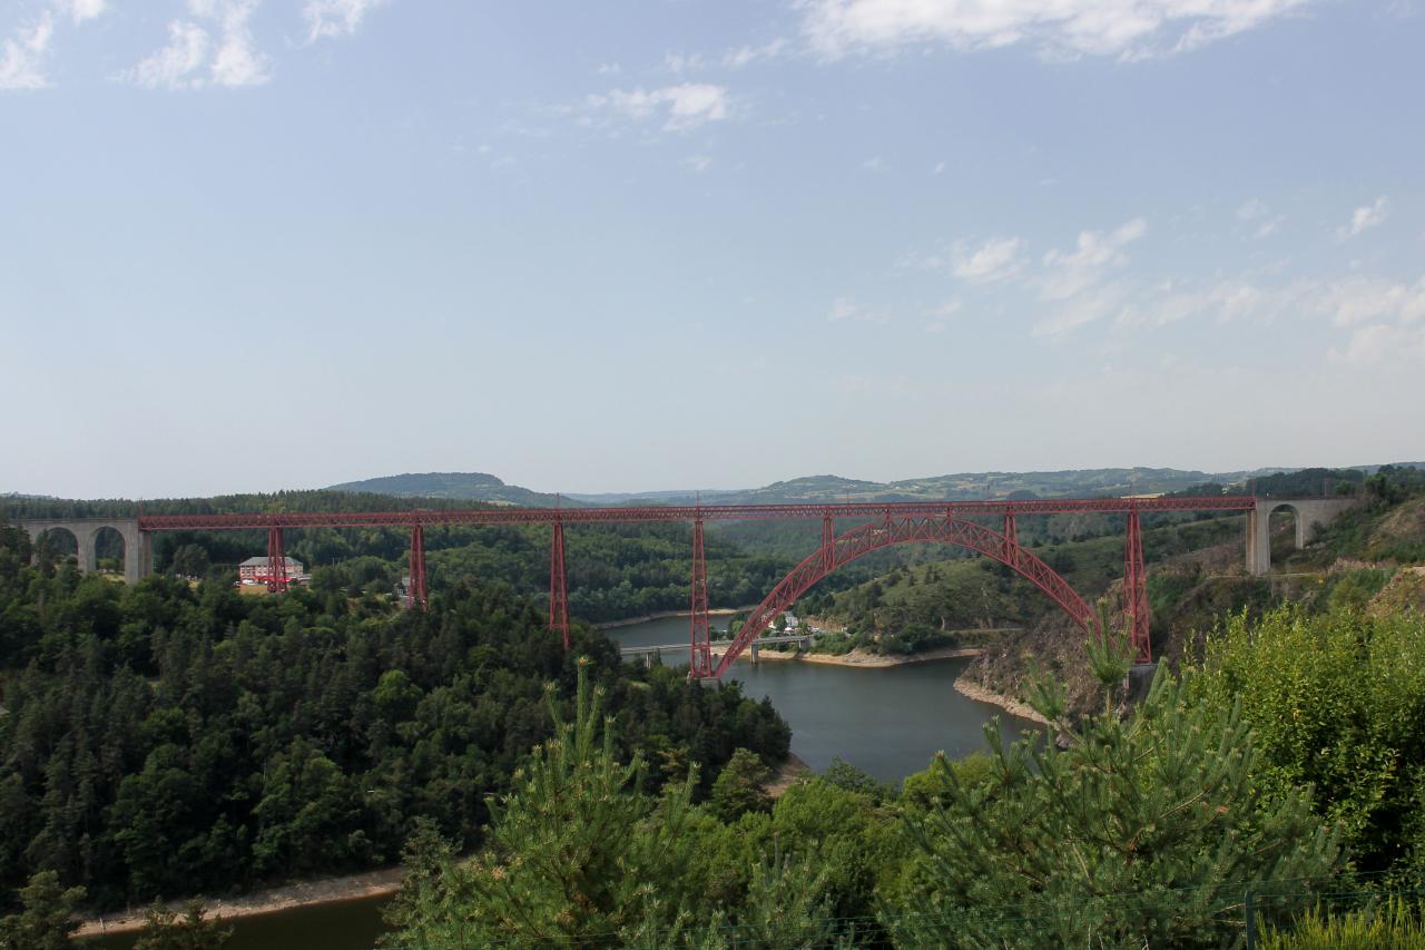
[[[1029,44],[1045,56],[1143,58],[1191,50],[1281,17],[1308,0],[801,0],[824,57],[943,44]]]

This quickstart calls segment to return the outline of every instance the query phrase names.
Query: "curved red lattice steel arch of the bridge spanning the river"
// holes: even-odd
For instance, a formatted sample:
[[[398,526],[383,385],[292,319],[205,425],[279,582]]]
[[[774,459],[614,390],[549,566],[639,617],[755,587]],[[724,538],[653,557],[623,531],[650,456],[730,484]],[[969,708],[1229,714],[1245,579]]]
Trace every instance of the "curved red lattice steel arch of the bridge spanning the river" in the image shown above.
[[[781,583],[772,588],[772,592],[757,605],[751,616],[737,632],[737,636],[732,638],[732,643],[722,655],[722,659],[705,675],[721,679],[722,673],[737,660],[738,655],[771,625],[778,613],[797,603],[812,585],[836,568],[851,563],[872,551],[881,551],[891,545],[918,542],[958,545],[993,558],[1015,569],[1036,588],[1047,593],[1086,633],[1097,629],[1097,613],[1079,596],[1079,592],[1069,586],[1069,582],[1059,572],[1036,558],[1033,552],[1019,545],[1019,541],[1015,538],[1013,515],[1006,515],[1005,518],[1005,533],[953,516],[891,518],[888,515],[882,521],[861,525],[839,536],[831,535],[829,523],[824,525],[822,546],[792,568],[791,573],[782,578]],[[1139,650],[1146,650],[1147,645],[1136,643],[1134,646]],[[693,645],[693,650],[695,658],[698,643]],[[695,660],[693,672],[694,675],[700,672]]]

